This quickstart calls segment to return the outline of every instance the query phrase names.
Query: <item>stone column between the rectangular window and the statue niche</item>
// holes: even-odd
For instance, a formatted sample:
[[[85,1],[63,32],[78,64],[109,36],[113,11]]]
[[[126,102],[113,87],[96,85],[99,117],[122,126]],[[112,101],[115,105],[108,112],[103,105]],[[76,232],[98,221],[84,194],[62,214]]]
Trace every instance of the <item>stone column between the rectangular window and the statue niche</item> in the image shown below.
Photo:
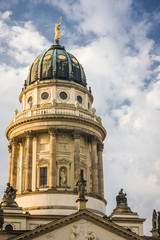
[[[56,165],[56,140],[57,130],[50,129],[50,164],[49,164],[49,188],[56,188],[57,186],[57,165]]]

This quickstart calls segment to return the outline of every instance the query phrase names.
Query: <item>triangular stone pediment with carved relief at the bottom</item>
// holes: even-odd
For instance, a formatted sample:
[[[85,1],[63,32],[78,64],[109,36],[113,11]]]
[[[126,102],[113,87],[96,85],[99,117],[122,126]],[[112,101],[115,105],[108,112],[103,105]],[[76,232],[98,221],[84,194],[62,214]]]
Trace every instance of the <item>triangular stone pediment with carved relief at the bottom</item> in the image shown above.
[[[65,240],[143,239],[143,237],[111,222],[108,218],[99,217],[88,210],[81,210],[17,236],[13,240],[63,240],[64,237]]]

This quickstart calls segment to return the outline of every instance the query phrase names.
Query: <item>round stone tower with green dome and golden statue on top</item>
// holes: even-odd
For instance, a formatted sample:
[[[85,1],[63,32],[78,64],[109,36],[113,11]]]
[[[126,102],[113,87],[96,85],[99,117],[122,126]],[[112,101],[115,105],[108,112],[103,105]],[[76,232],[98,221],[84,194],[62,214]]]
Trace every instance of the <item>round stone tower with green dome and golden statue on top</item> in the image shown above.
[[[87,208],[103,216],[106,131],[92,108],[82,65],[59,44],[59,26],[54,45],[31,65],[21,111],[6,129],[9,182],[24,211],[68,215],[77,211],[76,182],[83,171]]]

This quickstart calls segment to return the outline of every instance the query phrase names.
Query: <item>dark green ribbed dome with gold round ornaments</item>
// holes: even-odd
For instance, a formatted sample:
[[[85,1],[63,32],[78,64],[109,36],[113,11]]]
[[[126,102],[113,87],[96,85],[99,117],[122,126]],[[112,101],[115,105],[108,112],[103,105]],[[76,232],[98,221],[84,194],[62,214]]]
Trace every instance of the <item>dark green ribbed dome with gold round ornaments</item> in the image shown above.
[[[59,44],[52,45],[35,59],[29,70],[27,86],[36,81],[51,79],[74,81],[82,86],[87,85],[82,65]]]

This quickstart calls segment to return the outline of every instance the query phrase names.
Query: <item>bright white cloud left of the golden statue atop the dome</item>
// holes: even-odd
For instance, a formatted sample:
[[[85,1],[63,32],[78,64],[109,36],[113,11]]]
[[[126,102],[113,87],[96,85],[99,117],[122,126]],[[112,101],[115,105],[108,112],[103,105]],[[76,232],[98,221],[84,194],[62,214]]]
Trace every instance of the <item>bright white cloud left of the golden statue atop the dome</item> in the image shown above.
[[[19,64],[31,64],[50,46],[50,42],[42,36],[31,21],[12,23],[12,12],[6,11],[0,18],[1,53],[5,58],[16,60]],[[7,59],[8,60],[8,59]]]

